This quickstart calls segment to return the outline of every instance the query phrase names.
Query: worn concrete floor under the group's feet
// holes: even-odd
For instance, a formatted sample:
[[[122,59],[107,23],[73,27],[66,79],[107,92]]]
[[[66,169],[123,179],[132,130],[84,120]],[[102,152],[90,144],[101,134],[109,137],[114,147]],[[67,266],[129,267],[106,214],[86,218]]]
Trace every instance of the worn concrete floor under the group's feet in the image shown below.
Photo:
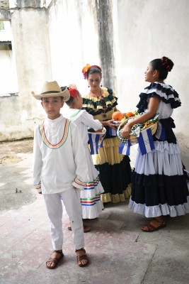
[[[64,214],[64,258],[55,270],[48,270],[45,261],[52,252],[49,223],[42,195],[33,190],[32,153],[15,156],[20,162],[0,163],[0,192],[9,190],[15,202],[12,208],[0,210],[1,284],[189,283],[189,214],[166,217],[166,228],[144,233],[140,227],[147,219],[130,212],[128,200],[105,204],[98,219],[86,221],[91,226],[85,234],[90,258],[86,268],[76,264]]]

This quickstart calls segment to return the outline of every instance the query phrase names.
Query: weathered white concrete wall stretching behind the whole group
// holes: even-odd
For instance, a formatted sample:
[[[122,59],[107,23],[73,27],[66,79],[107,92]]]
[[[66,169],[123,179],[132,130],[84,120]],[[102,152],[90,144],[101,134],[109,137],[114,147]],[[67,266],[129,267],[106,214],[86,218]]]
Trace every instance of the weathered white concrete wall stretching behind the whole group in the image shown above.
[[[174,111],[173,119],[189,168],[188,0],[52,0],[45,7],[41,6],[45,1],[30,2],[33,5],[26,7],[28,1],[18,1],[20,6],[11,9],[20,95],[15,119],[10,121],[4,114],[6,131],[0,140],[10,138],[11,126],[16,127],[11,138],[31,135],[35,117],[41,119],[44,113],[30,91],[40,92],[45,80],[60,85],[73,82],[81,94],[88,92],[81,73],[86,63],[101,65],[103,84],[115,89],[121,111],[134,110],[147,86],[147,64],[165,55],[175,63],[166,82],[181,97],[182,107]]]

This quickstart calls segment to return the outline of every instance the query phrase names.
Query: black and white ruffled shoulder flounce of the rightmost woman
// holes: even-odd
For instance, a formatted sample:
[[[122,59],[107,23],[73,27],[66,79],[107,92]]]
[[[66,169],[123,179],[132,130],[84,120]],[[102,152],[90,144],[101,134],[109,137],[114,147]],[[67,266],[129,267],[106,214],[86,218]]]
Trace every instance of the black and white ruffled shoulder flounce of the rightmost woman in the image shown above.
[[[181,107],[181,100],[178,93],[168,84],[151,83],[139,94],[140,100],[137,104],[138,112],[141,113],[148,107],[148,101],[151,97],[159,97],[165,104],[171,104],[171,109]]]

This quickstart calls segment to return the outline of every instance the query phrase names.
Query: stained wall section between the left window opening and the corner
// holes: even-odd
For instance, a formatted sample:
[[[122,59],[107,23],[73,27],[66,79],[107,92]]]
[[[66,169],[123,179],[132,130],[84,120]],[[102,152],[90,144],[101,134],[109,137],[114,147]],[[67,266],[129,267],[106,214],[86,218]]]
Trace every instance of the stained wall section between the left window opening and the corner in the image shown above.
[[[30,92],[40,92],[38,86],[52,80],[46,9],[11,8],[11,28],[18,96],[0,98],[0,141],[33,137],[35,123],[45,113]]]

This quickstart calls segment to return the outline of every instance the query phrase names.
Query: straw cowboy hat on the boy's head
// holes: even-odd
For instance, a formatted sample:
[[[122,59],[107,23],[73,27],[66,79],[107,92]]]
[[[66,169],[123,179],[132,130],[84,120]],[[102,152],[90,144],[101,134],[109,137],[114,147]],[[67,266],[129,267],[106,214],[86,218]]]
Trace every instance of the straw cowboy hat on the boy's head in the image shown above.
[[[41,94],[35,94],[35,92],[31,93],[33,97],[35,97],[35,99],[42,99],[45,97],[63,97],[64,102],[67,102],[70,97],[69,90],[65,88],[64,91],[62,91],[62,89],[60,89],[59,85],[57,84],[57,81],[46,81],[42,87]]]

